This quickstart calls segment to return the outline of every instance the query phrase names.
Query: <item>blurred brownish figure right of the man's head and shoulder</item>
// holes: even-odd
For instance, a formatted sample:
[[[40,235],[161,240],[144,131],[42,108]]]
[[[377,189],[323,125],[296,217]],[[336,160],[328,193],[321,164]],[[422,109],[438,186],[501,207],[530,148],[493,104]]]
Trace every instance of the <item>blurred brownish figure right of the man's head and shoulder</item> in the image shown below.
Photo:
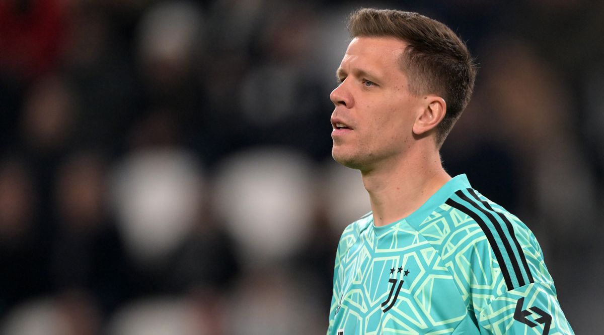
[[[522,182],[522,209],[536,214],[526,221],[567,241],[583,239],[596,214],[596,192],[573,134],[568,90],[525,43],[499,40],[484,60],[491,72],[484,74],[483,86],[502,135],[523,160],[522,176],[528,179]]]

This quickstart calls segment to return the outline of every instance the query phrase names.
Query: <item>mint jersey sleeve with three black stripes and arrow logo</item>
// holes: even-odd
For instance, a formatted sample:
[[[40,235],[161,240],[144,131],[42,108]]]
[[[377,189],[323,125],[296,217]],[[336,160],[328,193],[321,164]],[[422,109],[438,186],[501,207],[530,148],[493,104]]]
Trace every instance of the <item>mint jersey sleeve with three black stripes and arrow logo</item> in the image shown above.
[[[453,267],[469,274],[460,287],[462,293],[467,288],[480,333],[574,334],[530,229],[472,189],[455,192],[446,203],[458,210],[460,222],[471,219],[484,233],[474,234],[476,227],[468,226],[468,236],[480,238],[466,242],[470,247],[458,255],[466,261]]]

